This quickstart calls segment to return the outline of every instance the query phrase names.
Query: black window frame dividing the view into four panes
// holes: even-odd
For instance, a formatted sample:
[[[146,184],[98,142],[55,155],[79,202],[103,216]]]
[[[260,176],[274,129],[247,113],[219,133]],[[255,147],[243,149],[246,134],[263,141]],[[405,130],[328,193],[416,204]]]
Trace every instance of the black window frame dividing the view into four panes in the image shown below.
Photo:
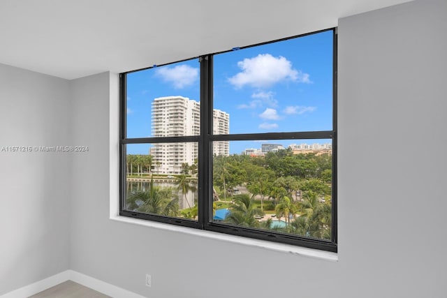
[[[277,43],[291,38],[300,38],[324,31],[332,31],[332,130],[331,131],[301,131],[286,133],[244,133],[213,135],[213,57],[216,54],[230,52],[232,50],[204,54],[170,64],[198,59],[200,62],[200,135],[188,135],[179,137],[126,137],[126,75],[140,70],[147,70],[156,66],[141,68],[119,74],[119,215],[131,218],[142,218],[159,223],[180,225],[199,230],[208,230],[224,234],[232,234],[240,237],[249,237],[265,241],[273,241],[282,244],[292,244],[306,248],[316,248],[322,251],[337,252],[337,27],[300,34],[289,38],[272,40],[267,43],[259,43],[246,47],[237,47],[237,50],[247,47],[256,47],[268,43]],[[235,50],[235,49],[233,49]],[[169,64],[163,64],[165,66]],[[212,142],[237,141],[237,140],[332,140],[332,227],[331,239],[315,239],[296,234],[286,234],[272,230],[258,230],[246,228],[228,223],[212,221]],[[198,142],[198,221],[187,218],[171,218],[156,214],[145,214],[125,209],[126,200],[126,144],[142,143],[170,143],[170,142]]]

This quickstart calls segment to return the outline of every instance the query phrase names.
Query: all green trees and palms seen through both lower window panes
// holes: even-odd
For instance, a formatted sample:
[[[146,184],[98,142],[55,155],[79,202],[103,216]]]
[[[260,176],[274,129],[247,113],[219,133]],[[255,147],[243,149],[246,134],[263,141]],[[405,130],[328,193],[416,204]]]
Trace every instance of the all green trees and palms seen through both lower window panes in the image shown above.
[[[149,169],[152,156],[147,159],[128,156],[129,174]],[[195,166],[194,166],[195,165]],[[175,177],[175,187],[154,186],[150,182],[148,191],[135,191],[128,195],[128,208],[163,216],[195,218],[196,204],[189,204],[186,194],[196,191],[196,163],[185,163],[184,173]],[[233,199],[230,214],[225,222],[252,228],[279,230],[292,234],[330,239],[331,227],[331,182],[332,156],[323,154],[293,154],[289,149],[269,152],[265,156],[243,155],[214,156],[213,189],[217,188],[220,198]],[[235,195],[235,187],[244,186],[248,194]],[[179,209],[179,195],[184,196],[183,210]],[[259,204],[260,202],[260,204]],[[258,221],[265,213],[275,213],[285,218],[285,227],[268,221]]]

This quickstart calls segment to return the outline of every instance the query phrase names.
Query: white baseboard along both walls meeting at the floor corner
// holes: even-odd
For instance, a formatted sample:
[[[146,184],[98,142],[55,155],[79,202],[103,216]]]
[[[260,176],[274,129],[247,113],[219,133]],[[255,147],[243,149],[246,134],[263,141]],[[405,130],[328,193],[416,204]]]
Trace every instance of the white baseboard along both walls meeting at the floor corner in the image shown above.
[[[84,285],[87,288],[91,288],[114,298],[145,298],[144,296],[135,294],[134,292],[124,290],[123,288],[119,288],[110,283],[105,283],[104,281],[100,281],[99,279],[73,270],[66,270],[59,274],[50,276],[49,278],[45,278],[42,281],[31,283],[31,285],[26,285],[23,288],[3,294],[0,298],[26,298],[37,294],[38,292],[42,292],[47,288],[51,288],[54,285],[63,283],[64,281],[74,281],[75,283],[79,283],[80,285]]]

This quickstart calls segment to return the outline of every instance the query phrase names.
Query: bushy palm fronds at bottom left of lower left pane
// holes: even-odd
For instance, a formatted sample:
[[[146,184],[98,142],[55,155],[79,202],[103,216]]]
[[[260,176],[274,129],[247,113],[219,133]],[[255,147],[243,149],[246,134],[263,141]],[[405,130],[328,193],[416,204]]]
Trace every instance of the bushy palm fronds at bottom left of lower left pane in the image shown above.
[[[173,188],[154,186],[151,179],[148,191],[136,191],[127,198],[127,208],[163,216],[177,216],[179,213],[178,198],[173,195]]]

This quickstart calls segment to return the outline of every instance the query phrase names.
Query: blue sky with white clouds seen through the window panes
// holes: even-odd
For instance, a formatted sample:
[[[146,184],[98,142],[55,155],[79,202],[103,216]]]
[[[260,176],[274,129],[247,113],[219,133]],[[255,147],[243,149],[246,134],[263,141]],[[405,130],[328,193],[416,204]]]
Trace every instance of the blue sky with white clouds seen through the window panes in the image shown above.
[[[199,101],[199,68],[198,59],[193,59],[129,73],[127,137],[151,136],[154,98],[184,96]],[[214,109],[230,114],[230,133],[332,129],[332,31],[217,54],[213,75]],[[261,143],[233,142],[230,154],[261,148]],[[148,148],[133,145],[128,153],[147,154]]]

